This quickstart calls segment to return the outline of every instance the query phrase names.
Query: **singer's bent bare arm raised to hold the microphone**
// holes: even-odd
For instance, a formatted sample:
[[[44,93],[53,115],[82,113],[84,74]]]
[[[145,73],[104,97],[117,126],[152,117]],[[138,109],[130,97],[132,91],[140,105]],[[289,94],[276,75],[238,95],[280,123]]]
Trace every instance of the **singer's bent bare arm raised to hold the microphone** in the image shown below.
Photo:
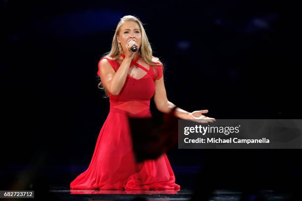
[[[110,94],[118,95],[120,90],[123,88],[129,71],[130,63],[131,58],[125,58],[115,72],[107,59],[103,59],[99,62],[102,84]]]

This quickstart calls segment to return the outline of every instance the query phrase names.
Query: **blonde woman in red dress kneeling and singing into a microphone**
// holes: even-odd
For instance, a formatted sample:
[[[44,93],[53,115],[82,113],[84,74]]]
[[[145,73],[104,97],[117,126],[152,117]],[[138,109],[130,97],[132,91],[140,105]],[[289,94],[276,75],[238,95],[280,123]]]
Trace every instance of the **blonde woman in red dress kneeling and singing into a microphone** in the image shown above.
[[[133,46],[137,48],[135,53],[131,51]],[[152,56],[140,20],[130,15],[121,18],[112,49],[100,60],[98,70],[100,85],[110,98],[110,112],[88,169],[71,182],[71,189],[180,190],[166,154],[156,160],[135,163],[127,119],[127,116],[151,117],[153,96],[157,109],[163,113],[175,106],[167,99],[162,68],[158,58]],[[202,115],[207,112],[177,108],[175,115],[203,123],[215,121]]]

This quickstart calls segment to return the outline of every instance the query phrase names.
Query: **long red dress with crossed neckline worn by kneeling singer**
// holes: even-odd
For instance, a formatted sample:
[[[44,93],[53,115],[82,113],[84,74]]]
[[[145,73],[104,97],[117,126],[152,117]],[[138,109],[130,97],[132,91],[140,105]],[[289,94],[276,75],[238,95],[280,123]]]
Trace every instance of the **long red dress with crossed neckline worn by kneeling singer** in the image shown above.
[[[118,69],[116,60],[102,59],[107,59],[115,71]],[[162,66],[147,69],[136,61],[132,61],[130,67],[138,69],[136,75],[141,78],[128,74],[121,92],[117,96],[109,94],[110,112],[98,136],[92,160],[71,182],[71,189],[180,190],[166,154],[156,160],[135,162],[127,115],[151,117],[154,80],[163,74]],[[99,71],[97,74],[100,76]]]

